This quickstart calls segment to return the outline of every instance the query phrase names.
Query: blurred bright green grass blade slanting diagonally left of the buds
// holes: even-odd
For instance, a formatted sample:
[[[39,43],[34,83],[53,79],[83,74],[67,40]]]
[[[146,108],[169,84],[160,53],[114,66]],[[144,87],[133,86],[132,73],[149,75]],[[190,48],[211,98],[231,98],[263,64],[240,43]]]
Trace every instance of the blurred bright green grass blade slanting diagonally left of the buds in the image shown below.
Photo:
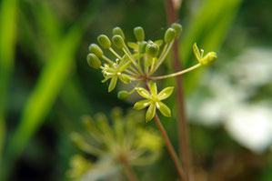
[[[96,5],[93,6],[96,7]],[[76,48],[83,33],[86,31],[86,27],[94,20],[94,13],[91,12],[92,15],[90,15],[90,9],[86,9],[87,17],[89,18],[86,20],[86,18],[81,17],[60,41],[57,51],[46,61],[34,91],[26,102],[19,125],[7,145],[4,160],[5,167],[0,174],[0,177],[1,175],[3,176],[3,180],[10,173],[16,158],[23,152],[29,139],[35,134],[38,127],[43,124],[45,116],[55,103],[55,98],[71,75],[75,62]],[[86,12],[83,15],[86,15]]]

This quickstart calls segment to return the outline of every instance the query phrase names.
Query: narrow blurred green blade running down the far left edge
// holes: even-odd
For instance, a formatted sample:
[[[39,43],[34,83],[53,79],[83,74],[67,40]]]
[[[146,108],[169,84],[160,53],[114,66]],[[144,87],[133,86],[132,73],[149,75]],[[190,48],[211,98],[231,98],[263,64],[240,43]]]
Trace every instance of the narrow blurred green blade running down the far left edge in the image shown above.
[[[5,143],[5,106],[8,87],[14,69],[17,0],[0,2],[0,170]],[[4,175],[5,173],[3,173]],[[0,171],[0,180],[2,172]]]

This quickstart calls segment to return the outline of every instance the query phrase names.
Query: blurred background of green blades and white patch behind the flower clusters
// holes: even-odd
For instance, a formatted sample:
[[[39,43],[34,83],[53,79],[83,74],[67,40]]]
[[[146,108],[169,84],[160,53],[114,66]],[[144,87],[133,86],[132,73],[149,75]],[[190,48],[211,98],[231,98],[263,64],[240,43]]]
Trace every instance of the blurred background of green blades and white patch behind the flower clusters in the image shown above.
[[[69,180],[70,157],[79,153],[69,134],[80,130],[81,116],[108,114],[115,106],[126,110],[133,101],[118,100],[118,88],[107,93],[100,71],[86,64],[88,45],[116,25],[128,40],[134,40],[136,25],[148,39],[163,38],[165,3],[0,2],[0,179]],[[218,53],[216,65],[185,76],[196,181],[272,180],[271,9],[268,0],[183,2],[178,19],[184,67],[196,64],[195,42]],[[171,58],[160,74],[170,67]],[[174,109],[174,96],[168,104]],[[175,116],[162,121],[176,146]],[[175,178],[167,153],[156,164],[149,168],[156,180]]]

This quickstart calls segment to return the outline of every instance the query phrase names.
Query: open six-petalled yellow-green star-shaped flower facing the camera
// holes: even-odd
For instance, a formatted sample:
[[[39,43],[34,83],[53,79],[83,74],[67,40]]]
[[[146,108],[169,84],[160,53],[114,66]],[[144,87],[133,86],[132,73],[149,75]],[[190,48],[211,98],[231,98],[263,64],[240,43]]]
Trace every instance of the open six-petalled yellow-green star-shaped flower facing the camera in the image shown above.
[[[143,109],[149,106],[146,111],[146,121],[151,121],[156,114],[156,108],[164,116],[171,116],[171,111],[168,106],[166,106],[162,100],[166,99],[173,92],[174,86],[169,86],[164,88],[159,94],[157,94],[156,83],[150,81],[149,83],[150,93],[143,87],[136,88],[137,93],[140,96],[145,97],[145,100],[136,102],[134,105],[135,109]]]

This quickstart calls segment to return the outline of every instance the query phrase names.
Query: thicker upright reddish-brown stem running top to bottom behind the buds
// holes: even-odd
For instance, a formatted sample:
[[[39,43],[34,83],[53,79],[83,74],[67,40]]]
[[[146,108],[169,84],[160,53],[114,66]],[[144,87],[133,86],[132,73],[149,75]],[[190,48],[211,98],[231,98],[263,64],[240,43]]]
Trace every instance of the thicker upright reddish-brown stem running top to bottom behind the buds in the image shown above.
[[[173,0],[165,0],[166,2],[166,13],[167,13],[167,21],[168,25],[176,23],[177,17],[176,12],[178,9],[175,9]],[[178,56],[178,42],[175,41],[174,45],[174,70],[178,71],[181,69],[180,59]],[[186,180],[193,181],[192,175],[192,164],[191,164],[191,152],[189,146],[189,139],[188,139],[188,130],[186,125],[186,114],[185,114],[185,104],[184,104],[184,96],[183,96],[183,88],[182,88],[182,77],[176,76],[176,100],[177,100],[177,129],[178,129],[178,139],[179,139],[179,153],[182,157],[182,164],[185,168],[186,172]]]

